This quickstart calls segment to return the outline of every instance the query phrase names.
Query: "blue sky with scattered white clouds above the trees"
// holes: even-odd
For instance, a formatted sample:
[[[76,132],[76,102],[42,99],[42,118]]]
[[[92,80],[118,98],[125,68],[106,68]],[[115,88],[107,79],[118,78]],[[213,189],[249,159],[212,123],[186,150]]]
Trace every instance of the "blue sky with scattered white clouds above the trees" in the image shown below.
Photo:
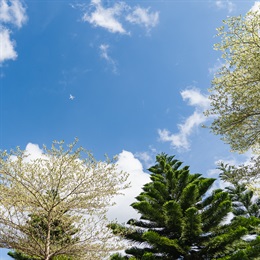
[[[78,137],[98,159],[118,154],[120,167],[133,173],[124,205],[149,180],[146,168],[160,152],[217,177],[218,160],[249,155],[230,153],[201,128],[210,123],[202,112],[221,65],[214,35],[227,16],[256,5],[0,0],[0,149],[33,153]],[[125,212],[122,220],[131,217]]]

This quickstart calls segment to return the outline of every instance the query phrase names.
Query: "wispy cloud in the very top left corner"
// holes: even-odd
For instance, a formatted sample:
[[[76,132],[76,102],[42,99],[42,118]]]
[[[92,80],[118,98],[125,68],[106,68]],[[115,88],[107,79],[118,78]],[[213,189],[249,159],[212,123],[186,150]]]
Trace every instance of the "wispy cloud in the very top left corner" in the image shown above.
[[[26,21],[26,9],[19,0],[0,0],[0,23],[21,28]]]

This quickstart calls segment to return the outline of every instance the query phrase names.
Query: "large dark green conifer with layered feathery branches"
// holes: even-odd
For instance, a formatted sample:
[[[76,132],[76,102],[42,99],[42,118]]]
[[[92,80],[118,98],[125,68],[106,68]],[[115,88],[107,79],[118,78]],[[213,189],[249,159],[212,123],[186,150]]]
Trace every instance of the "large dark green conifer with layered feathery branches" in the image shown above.
[[[131,205],[141,214],[140,220],[130,219],[128,226],[111,225],[133,246],[126,256],[116,254],[111,259],[202,260],[235,255],[242,236],[260,220],[238,217],[223,224],[232,210],[231,199],[220,189],[207,196],[215,179],[190,174],[189,167],[180,168],[182,163],[173,156],[158,155],[156,162],[149,169],[151,182]]]

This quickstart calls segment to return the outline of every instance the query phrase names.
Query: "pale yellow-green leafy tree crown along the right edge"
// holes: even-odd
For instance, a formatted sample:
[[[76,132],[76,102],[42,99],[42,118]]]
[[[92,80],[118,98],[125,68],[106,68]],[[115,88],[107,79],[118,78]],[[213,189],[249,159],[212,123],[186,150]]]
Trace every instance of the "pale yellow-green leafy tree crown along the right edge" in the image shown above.
[[[218,28],[221,42],[215,45],[224,61],[212,81],[211,108],[205,114],[217,116],[212,131],[238,152],[260,151],[259,30],[260,7],[225,20]]]

